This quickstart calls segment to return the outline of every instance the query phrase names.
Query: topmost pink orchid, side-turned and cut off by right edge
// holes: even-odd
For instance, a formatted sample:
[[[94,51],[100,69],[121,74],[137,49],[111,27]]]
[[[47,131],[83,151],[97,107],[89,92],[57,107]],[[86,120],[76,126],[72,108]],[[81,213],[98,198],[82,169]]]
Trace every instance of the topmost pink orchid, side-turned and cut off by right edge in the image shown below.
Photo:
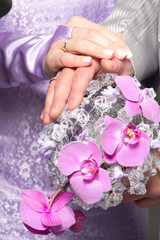
[[[147,88],[141,90],[130,76],[118,76],[115,79],[123,96],[126,98],[125,110],[129,116],[143,113],[143,116],[153,122],[160,121],[160,106],[148,96]]]

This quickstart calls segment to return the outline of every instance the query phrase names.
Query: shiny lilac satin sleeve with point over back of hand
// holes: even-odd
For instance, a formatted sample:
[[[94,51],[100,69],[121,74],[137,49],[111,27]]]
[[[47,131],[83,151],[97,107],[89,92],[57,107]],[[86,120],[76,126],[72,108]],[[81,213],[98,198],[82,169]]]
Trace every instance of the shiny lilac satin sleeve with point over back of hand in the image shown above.
[[[50,45],[70,37],[72,28],[59,26],[54,35],[0,33],[0,87],[47,80],[44,60]]]

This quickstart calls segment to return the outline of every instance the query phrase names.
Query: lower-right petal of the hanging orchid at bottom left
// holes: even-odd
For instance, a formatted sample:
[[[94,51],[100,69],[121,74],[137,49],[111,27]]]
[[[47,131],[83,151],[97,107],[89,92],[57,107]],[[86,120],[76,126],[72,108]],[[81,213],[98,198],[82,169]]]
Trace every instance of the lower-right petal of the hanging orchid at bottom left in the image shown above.
[[[75,215],[70,206],[65,206],[60,211],[57,212],[59,217],[61,218],[61,225],[51,227],[51,230],[54,233],[61,233],[62,231],[70,228],[75,223]]]

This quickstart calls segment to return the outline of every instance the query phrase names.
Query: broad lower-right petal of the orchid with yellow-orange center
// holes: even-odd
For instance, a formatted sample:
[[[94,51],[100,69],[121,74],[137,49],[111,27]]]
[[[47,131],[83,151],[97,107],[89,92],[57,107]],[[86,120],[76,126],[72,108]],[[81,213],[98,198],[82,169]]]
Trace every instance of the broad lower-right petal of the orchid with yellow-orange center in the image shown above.
[[[117,154],[117,162],[126,167],[141,165],[150,151],[149,142],[145,138],[140,138],[136,144],[123,145]]]

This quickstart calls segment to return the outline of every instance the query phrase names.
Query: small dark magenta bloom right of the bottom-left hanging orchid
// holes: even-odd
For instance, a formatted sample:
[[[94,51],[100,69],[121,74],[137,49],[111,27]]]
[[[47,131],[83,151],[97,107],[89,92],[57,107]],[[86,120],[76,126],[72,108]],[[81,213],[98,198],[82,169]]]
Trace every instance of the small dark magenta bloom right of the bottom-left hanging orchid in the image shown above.
[[[74,225],[70,227],[70,230],[72,232],[80,232],[83,229],[84,221],[86,219],[86,216],[81,211],[81,209],[75,209],[73,210],[76,218],[76,222]]]

